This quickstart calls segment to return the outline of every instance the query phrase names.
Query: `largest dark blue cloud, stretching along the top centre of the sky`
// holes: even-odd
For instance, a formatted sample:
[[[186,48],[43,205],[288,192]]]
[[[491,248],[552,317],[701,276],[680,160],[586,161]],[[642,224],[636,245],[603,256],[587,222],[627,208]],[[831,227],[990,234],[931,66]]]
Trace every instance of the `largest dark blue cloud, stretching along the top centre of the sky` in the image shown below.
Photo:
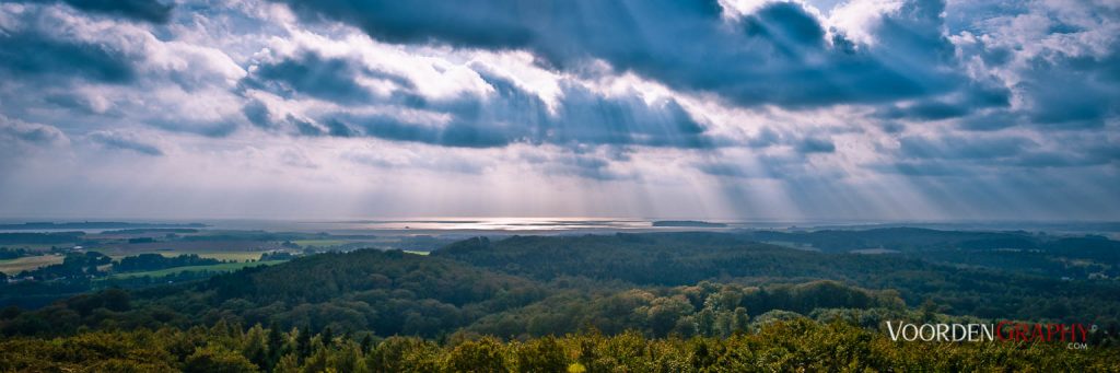
[[[800,4],[775,2],[725,21],[717,1],[284,1],[306,19],[355,25],[391,43],[529,49],[579,71],[599,58],[682,91],[739,105],[884,102],[943,93],[953,47],[941,1],[914,1],[884,20],[876,46],[857,48]],[[831,41],[831,43],[829,43]]]

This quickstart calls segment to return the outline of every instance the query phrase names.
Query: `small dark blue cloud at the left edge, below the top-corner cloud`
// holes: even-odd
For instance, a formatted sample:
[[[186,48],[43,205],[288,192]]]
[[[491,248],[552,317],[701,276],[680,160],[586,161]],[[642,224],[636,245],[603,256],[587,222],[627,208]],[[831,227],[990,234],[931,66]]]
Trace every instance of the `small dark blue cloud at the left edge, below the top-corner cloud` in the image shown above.
[[[125,84],[137,73],[128,56],[106,45],[56,39],[35,32],[0,31],[0,76],[50,81],[78,77]]]

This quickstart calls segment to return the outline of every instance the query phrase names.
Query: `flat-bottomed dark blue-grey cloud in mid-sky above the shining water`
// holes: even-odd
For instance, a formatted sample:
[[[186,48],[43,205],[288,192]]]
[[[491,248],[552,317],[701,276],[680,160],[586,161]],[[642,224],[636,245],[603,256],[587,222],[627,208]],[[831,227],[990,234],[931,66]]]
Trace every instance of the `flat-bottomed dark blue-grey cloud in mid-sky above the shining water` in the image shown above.
[[[609,144],[703,148],[711,143],[699,124],[675,101],[646,104],[641,97],[604,96],[581,86],[566,86],[558,112],[550,114],[540,97],[507,81],[487,78],[496,97],[431,103],[427,109],[452,115],[445,124],[409,123],[391,118],[347,121],[366,136],[450,147],[487,148],[513,142],[561,146]]]

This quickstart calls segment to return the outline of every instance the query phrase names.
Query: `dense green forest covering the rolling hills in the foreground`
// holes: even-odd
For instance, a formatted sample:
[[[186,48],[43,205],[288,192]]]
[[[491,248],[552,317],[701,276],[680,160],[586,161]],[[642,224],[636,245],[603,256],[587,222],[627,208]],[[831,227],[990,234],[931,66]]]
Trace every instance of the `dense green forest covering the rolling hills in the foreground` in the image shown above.
[[[905,251],[950,250],[914,244],[928,242],[917,236]],[[962,243],[989,239],[954,245],[983,250]],[[1102,254],[1092,255],[1116,265]],[[1120,369],[1120,283],[1027,267],[799,250],[713,232],[474,237],[428,254],[364,249],[286,259],[171,285],[109,287],[41,308],[7,307],[0,370]],[[198,259],[138,257],[127,265],[168,260]],[[1080,349],[893,342],[883,330],[887,320],[1005,319],[1096,328]]]

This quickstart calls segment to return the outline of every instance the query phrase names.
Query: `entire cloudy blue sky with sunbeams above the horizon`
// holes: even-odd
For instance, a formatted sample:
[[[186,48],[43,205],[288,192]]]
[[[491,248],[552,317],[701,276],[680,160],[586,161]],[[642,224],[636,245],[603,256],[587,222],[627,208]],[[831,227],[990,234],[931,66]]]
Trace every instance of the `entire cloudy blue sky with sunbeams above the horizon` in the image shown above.
[[[1118,128],[1112,0],[0,3],[0,217],[1116,221]]]

